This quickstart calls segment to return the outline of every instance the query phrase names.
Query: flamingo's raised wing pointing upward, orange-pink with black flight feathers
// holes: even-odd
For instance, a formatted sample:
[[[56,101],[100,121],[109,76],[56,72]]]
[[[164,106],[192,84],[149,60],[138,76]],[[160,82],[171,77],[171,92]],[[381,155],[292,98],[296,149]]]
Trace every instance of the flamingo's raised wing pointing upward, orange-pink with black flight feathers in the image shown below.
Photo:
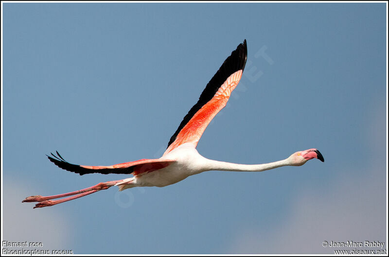
[[[197,146],[205,128],[212,118],[226,106],[232,90],[242,78],[246,60],[247,43],[245,39],[231,52],[231,55],[208,82],[198,102],[185,115],[177,131],[170,138],[165,153],[184,143],[192,143],[194,147]]]

